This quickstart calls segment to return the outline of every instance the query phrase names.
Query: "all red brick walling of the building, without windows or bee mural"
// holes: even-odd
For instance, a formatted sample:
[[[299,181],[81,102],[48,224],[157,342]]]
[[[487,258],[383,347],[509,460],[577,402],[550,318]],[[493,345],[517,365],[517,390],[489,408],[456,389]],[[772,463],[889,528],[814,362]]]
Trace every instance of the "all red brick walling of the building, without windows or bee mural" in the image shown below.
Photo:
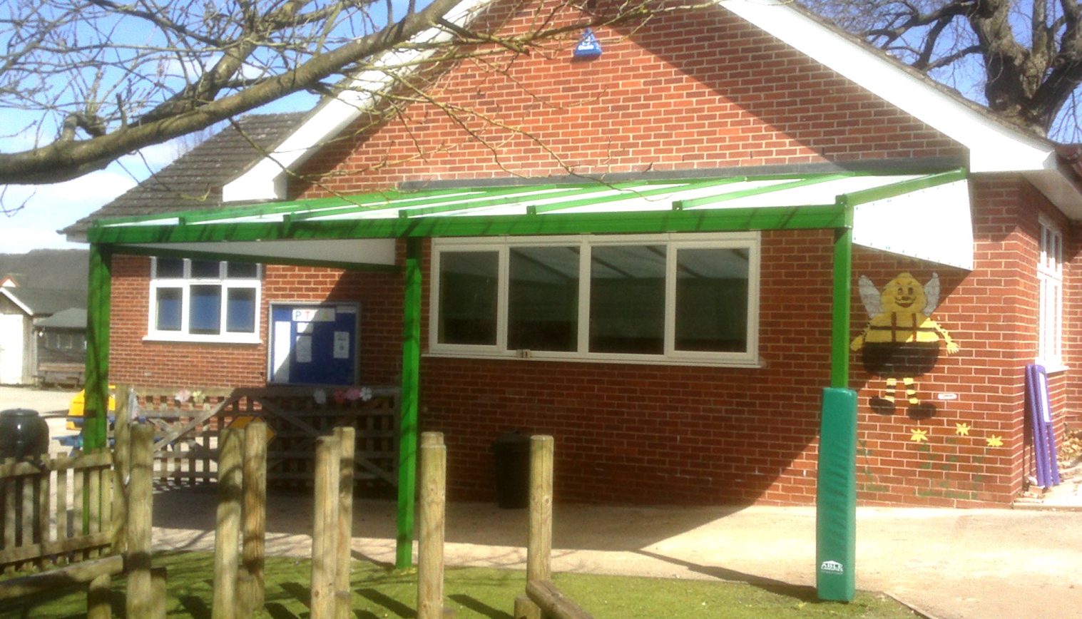
[[[512,26],[525,18],[516,16]],[[504,57],[497,73],[463,61],[434,87],[440,101],[520,132],[462,111],[463,122],[485,135],[483,145],[434,106],[417,104],[374,130],[360,131],[371,119],[355,123],[358,135],[325,147],[305,166],[319,182],[298,184],[291,194],[511,173],[962,154],[722,10],[659,17],[634,39],[619,35],[602,28],[605,53],[591,63],[570,61],[570,41],[554,54]],[[979,177],[973,186],[974,272],[856,253],[856,274],[880,287],[902,271],[921,281],[938,273],[944,300],[933,318],[962,347],[918,378],[921,397],[938,407],[924,420],[909,419],[903,407],[889,417],[873,413],[868,399],[882,381],[865,373],[854,354],[853,386],[861,390],[858,483],[866,503],[1002,504],[1021,487],[1028,457],[1022,367],[1034,355],[1037,333],[1035,213],[1050,207],[1020,179]],[[768,233],[763,239],[761,369],[422,358],[421,423],[446,433],[451,496],[491,498],[489,445],[505,430],[523,430],[555,435],[563,500],[810,503],[820,390],[829,374],[831,234]],[[147,267],[143,259],[118,266],[115,294],[127,301],[115,299],[123,308],[114,320],[114,376],[166,380],[171,376],[157,370],[138,373],[163,358],[170,372],[188,381],[264,380],[264,346],[141,342]],[[272,299],[360,300],[365,382],[393,382],[400,276],[339,277],[270,267],[264,305]],[[424,302],[427,312],[427,293]],[[1076,305],[1069,311],[1082,312]],[[856,291],[853,316],[855,335],[866,320]],[[1071,332],[1069,363],[1078,350]],[[1077,400],[1077,382],[1053,377],[1057,407]],[[937,399],[941,393],[958,397]],[[956,433],[959,423],[968,426],[968,436]],[[928,439],[911,440],[914,429]],[[990,447],[992,436],[1003,446]]]

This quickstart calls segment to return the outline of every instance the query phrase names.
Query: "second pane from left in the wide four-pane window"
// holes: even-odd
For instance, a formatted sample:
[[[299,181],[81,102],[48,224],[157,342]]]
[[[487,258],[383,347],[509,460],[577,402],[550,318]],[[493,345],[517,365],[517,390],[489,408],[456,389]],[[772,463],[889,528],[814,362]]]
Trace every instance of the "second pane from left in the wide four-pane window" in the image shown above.
[[[576,351],[579,248],[512,248],[507,348]]]

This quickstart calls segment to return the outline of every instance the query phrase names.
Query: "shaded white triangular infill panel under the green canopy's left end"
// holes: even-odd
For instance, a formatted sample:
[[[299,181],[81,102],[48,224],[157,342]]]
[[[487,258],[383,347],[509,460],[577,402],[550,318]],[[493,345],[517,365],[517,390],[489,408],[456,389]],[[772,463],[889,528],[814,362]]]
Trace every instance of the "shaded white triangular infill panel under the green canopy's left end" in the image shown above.
[[[358,265],[395,264],[395,239],[392,238],[153,242],[127,247],[281,259],[282,262],[296,260]]]

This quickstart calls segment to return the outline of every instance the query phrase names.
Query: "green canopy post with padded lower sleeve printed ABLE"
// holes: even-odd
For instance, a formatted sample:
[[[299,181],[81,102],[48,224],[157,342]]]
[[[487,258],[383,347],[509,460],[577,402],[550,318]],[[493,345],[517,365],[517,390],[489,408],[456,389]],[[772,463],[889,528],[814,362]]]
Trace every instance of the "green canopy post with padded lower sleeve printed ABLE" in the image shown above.
[[[819,600],[856,595],[857,394],[849,384],[853,209],[834,233],[830,386],[823,390],[816,485],[816,590]]]

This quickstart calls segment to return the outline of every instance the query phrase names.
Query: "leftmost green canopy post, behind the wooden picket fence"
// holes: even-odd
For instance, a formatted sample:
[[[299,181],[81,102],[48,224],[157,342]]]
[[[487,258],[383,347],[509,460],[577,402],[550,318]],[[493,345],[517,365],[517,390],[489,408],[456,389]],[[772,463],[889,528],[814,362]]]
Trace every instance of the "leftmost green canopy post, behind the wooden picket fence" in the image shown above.
[[[87,382],[82,447],[105,447],[109,406],[109,303],[113,255],[108,246],[90,246],[87,289]]]

